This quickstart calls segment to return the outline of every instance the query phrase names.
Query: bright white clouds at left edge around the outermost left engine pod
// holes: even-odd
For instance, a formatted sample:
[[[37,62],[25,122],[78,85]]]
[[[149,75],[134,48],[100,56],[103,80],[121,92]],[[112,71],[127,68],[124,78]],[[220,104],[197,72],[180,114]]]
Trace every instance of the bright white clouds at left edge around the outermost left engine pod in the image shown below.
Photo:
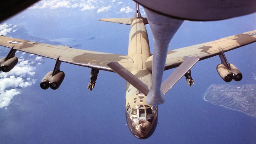
[[[0,25],[0,35],[6,35],[16,30],[16,25],[6,23]],[[1,48],[1,58],[8,52],[8,48]],[[18,64],[8,73],[0,72],[0,108],[8,106],[14,96],[21,93],[22,88],[35,84],[36,79],[31,78],[36,74],[35,66],[44,62],[42,57],[25,52],[17,51],[15,56],[19,58]]]

